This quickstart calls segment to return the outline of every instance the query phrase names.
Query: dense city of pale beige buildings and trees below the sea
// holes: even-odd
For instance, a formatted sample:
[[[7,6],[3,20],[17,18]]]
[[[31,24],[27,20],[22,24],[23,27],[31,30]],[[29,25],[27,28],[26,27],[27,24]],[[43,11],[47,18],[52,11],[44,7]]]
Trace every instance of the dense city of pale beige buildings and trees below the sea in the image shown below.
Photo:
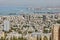
[[[57,40],[60,13],[0,16],[0,40]]]

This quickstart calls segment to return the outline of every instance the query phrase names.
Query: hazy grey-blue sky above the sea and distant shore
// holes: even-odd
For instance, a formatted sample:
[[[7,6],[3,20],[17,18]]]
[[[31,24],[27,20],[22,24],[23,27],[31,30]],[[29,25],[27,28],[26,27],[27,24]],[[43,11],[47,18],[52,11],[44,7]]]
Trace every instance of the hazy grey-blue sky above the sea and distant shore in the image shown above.
[[[60,0],[0,0],[0,6],[60,7]]]

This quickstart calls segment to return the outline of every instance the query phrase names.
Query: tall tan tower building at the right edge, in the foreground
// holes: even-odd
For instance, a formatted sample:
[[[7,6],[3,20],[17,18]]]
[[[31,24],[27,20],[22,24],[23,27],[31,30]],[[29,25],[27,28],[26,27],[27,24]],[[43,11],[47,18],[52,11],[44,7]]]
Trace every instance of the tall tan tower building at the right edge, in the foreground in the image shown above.
[[[60,24],[55,24],[52,31],[53,40],[60,40]]]

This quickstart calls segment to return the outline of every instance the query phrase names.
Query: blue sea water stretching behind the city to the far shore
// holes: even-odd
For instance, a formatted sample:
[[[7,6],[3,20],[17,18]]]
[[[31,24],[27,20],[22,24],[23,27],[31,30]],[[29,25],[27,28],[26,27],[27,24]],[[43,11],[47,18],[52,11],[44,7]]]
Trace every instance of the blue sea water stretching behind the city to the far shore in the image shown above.
[[[27,7],[0,7],[0,15],[8,15],[12,13],[16,13],[16,15],[19,15],[21,12],[22,13],[33,13],[34,11],[37,12],[60,12],[60,9],[52,9],[52,10],[31,10],[28,9]]]

